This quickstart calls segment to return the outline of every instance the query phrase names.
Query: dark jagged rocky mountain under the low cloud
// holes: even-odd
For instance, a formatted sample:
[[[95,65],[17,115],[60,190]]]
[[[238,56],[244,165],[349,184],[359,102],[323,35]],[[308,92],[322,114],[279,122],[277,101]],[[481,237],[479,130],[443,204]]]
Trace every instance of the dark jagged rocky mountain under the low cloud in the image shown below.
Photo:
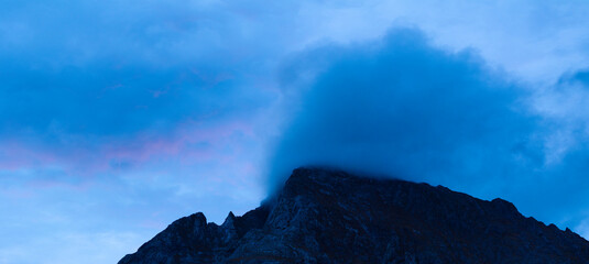
[[[509,201],[445,187],[298,168],[272,199],[221,224],[176,220],[119,264],[589,263],[589,242]]]

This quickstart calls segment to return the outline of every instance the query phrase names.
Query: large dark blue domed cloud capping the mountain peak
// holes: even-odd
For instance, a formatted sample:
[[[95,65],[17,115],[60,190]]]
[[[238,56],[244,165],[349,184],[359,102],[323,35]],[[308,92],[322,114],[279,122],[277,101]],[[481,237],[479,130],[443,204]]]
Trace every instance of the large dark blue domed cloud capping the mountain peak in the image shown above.
[[[473,52],[434,47],[411,29],[317,51],[296,61],[326,66],[299,89],[270,162],[272,187],[301,165],[460,188],[544,163],[525,90]]]

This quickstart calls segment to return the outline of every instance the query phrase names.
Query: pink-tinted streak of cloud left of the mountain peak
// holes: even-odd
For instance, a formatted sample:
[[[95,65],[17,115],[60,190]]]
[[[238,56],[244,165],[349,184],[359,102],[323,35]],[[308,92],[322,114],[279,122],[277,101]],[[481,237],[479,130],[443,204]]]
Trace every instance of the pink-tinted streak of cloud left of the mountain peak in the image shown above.
[[[240,138],[239,140],[236,140]],[[167,135],[139,133],[132,140],[106,140],[101,144],[81,142],[79,147],[58,148],[28,144],[22,141],[0,141],[0,172],[21,169],[43,170],[58,168],[65,177],[78,177],[75,188],[87,188],[87,182],[105,173],[140,169],[162,161],[175,161],[184,165],[232,164],[236,155],[243,153],[241,139],[255,140],[253,127],[244,121],[227,121],[218,124],[185,122]],[[113,165],[114,164],[114,165]],[[122,164],[116,166],[116,164]],[[249,167],[248,170],[254,170]],[[63,187],[63,178],[37,178],[33,187]],[[69,182],[69,180],[68,180]]]

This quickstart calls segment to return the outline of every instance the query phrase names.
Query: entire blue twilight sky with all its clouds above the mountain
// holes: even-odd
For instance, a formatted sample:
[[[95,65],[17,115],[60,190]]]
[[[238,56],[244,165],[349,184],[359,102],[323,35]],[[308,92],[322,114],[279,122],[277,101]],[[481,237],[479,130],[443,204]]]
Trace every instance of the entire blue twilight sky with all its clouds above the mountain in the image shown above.
[[[0,0],[0,264],[116,263],[301,165],[589,238],[587,1]]]

